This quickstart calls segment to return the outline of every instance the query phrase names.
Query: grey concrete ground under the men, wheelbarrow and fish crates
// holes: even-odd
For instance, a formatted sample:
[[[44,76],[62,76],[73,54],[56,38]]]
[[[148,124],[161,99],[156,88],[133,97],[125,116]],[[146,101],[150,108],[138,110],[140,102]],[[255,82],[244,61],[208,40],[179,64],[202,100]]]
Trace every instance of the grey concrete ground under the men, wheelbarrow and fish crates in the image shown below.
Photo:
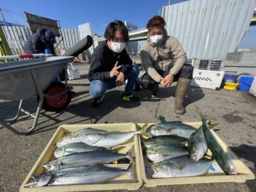
[[[91,108],[92,98],[88,92],[89,65],[76,65],[80,68],[81,79],[69,81],[74,86],[76,97],[60,113],[42,111],[35,132],[28,136],[17,136],[0,125],[0,191],[19,191],[20,185],[28,175],[33,164],[61,124],[103,124],[121,122],[159,122],[158,116],[166,120],[198,122],[195,110],[216,118],[218,134],[234,150],[241,161],[256,173],[256,98],[246,92],[228,90],[208,90],[191,87],[185,102],[187,113],[176,115],[174,108],[175,83],[170,88],[160,88],[161,99],[149,100],[147,90],[134,92],[140,102],[120,100],[123,87],[109,90],[97,109]],[[146,99],[145,99],[146,98]],[[0,117],[10,118],[17,109],[17,101],[0,100]],[[36,110],[36,99],[25,100],[24,108]],[[20,116],[13,124],[18,129],[31,126],[32,119]],[[25,128],[24,128],[25,127]],[[255,180],[245,183],[209,183],[141,187],[139,191],[255,191]]]

